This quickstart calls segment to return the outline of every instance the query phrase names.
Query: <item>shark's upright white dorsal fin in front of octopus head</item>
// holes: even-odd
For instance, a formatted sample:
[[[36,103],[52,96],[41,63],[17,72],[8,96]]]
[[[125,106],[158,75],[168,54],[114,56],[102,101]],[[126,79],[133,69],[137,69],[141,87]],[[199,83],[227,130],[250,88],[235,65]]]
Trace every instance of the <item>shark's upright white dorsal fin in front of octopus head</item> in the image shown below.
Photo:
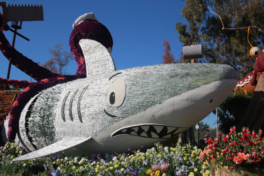
[[[95,40],[82,39],[79,44],[86,63],[87,77],[116,70],[112,56],[101,43]]]

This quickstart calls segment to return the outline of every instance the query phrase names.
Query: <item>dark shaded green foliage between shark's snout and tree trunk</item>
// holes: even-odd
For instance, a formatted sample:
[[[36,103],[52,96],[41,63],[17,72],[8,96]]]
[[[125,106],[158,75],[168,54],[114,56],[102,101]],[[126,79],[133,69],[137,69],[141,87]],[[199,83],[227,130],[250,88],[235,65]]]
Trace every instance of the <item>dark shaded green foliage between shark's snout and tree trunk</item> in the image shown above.
[[[220,130],[228,133],[231,126],[237,126],[242,119],[252,94],[250,92],[230,94],[225,101],[219,106],[217,115],[219,117]],[[215,114],[215,111],[214,111]]]

